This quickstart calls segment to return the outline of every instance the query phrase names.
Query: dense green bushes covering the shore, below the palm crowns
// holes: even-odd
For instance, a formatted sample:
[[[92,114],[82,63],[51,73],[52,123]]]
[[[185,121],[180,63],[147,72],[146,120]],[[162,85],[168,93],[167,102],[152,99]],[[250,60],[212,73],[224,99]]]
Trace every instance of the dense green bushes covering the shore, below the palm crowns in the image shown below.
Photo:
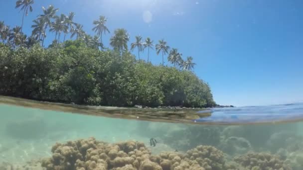
[[[99,51],[81,41],[47,49],[0,45],[0,94],[77,104],[215,105],[193,73],[137,61],[129,52]]]

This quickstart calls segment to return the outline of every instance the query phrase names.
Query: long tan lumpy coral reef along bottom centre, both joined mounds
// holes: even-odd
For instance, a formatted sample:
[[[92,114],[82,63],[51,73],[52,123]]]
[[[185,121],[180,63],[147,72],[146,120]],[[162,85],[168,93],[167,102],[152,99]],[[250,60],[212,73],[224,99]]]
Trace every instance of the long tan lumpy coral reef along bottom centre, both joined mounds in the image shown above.
[[[46,170],[224,170],[225,164],[223,152],[212,146],[151,155],[140,142],[109,144],[94,138],[56,143],[52,153],[42,161]]]

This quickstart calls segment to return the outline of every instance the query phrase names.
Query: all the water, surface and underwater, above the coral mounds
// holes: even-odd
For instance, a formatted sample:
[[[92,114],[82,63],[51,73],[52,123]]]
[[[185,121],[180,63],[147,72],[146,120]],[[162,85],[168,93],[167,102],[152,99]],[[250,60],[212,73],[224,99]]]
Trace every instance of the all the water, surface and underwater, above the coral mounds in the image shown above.
[[[98,115],[99,111],[101,115]],[[210,145],[225,153],[226,162],[248,152],[268,152],[279,156],[294,170],[302,170],[302,111],[302,103],[202,111],[151,111],[96,109],[2,97],[0,162],[22,165],[49,158],[56,142],[95,137],[109,143],[140,141],[154,155],[163,151],[186,152],[199,145]],[[192,115],[199,118],[191,119]],[[158,142],[154,147],[150,145],[151,138]]]

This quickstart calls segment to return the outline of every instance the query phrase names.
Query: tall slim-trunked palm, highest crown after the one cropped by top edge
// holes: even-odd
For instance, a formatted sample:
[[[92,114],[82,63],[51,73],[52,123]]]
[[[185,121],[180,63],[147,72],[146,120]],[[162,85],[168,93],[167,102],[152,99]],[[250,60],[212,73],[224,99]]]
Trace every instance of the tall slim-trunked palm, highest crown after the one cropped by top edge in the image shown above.
[[[43,14],[38,15],[38,19],[41,19],[45,23],[43,39],[42,39],[42,47],[43,47],[44,39],[46,37],[46,29],[48,26],[51,27],[52,24],[51,19],[54,18],[56,12],[58,11],[58,8],[49,5],[47,9],[45,9],[45,7],[42,6],[42,10],[43,10]]]

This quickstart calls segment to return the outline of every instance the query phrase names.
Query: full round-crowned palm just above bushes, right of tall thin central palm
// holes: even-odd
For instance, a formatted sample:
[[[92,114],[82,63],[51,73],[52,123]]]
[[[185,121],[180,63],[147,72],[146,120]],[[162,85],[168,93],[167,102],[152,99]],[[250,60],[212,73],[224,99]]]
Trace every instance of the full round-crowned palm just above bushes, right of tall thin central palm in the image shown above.
[[[128,41],[130,40],[127,30],[124,28],[119,28],[115,30],[115,35],[110,39],[110,45],[122,53],[123,50],[128,49]]]

